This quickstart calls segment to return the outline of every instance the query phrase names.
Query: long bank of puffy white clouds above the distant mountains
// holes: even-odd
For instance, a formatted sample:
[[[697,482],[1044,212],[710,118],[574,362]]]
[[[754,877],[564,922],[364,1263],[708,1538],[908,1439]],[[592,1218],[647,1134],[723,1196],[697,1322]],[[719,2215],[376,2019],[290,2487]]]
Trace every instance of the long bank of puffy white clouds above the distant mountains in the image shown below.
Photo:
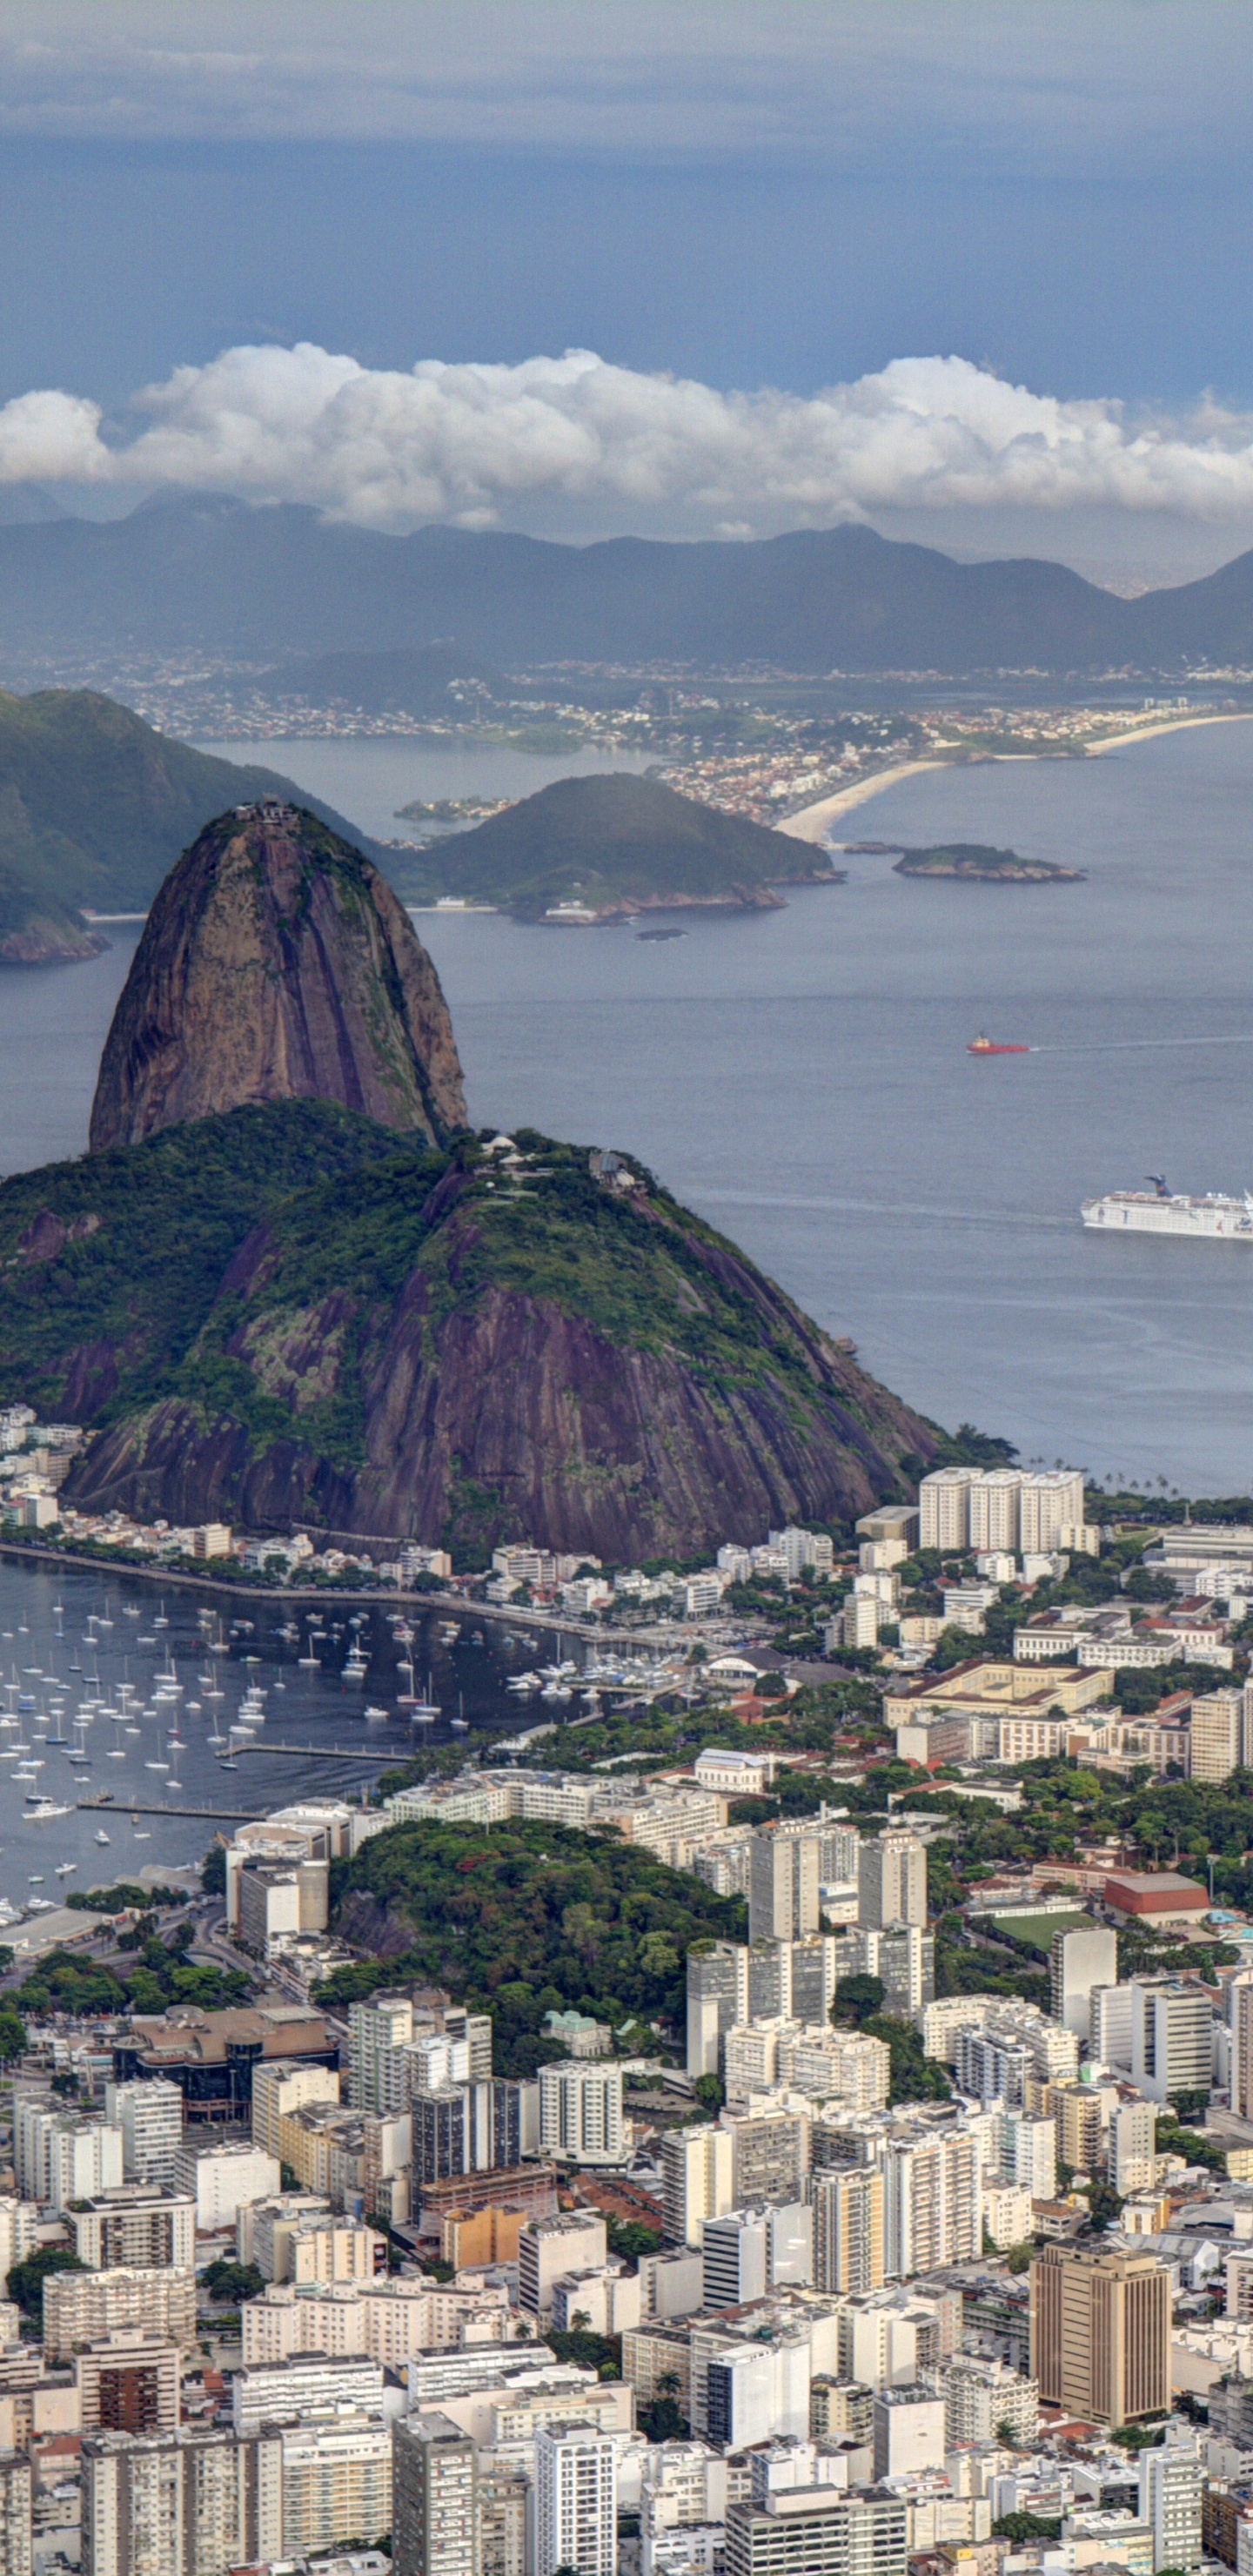
[[[0,407],[0,482],[139,484],[304,502],[387,533],[446,520],[766,536],[884,510],[1253,513],[1253,415],[1201,402],[1129,420],[1060,402],[964,358],[895,358],[799,397],[722,394],[590,350],[523,366],[358,366],[312,343],[229,348],[134,397],[31,392]]]

